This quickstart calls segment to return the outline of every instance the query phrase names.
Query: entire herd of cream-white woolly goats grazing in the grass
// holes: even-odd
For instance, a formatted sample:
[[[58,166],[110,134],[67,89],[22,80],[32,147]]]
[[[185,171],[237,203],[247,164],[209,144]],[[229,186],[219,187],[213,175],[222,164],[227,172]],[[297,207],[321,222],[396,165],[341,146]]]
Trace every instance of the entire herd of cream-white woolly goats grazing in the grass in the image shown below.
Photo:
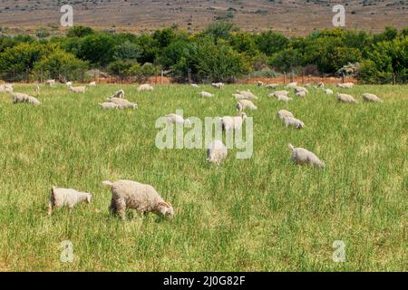
[[[86,87],[79,86],[73,87],[72,82],[65,83],[67,88],[74,93],[85,93]],[[53,87],[55,85],[54,80],[49,80],[46,85]],[[265,87],[267,89],[277,89],[278,84],[267,84],[264,85],[262,82],[257,83],[258,86]],[[337,87],[350,89],[354,86],[354,83],[339,83]],[[96,82],[89,83],[89,86],[96,86]],[[191,84],[192,87],[199,89],[198,84]],[[309,94],[308,88],[312,84],[306,84],[304,87],[298,86],[296,82],[289,83],[286,87],[287,90],[294,90],[296,98],[306,98]],[[222,90],[224,84],[221,82],[212,83],[212,87]],[[314,87],[317,90],[324,90],[325,94],[333,95],[333,90],[325,89],[325,84],[320,82]],[[35,91],[40,92],[40,87],[35,85]],[[153,91],[154,88],[150,84],[142,84],[138,87],[138,91]],[[289,91],[282,90],[276,91],[268,94],[270,98],[276,98],[277,101],[281,102],[291,102],[293,98],[289,98]],[[42,102],[38,101],[33,96],[25,93],[14,92],[12,84],[2,84],[0,85],[0,92],[8,92],[13,96],[13,103],[30,103],[33,105],[41,105]],[[199,92],[201,98],[211,98],[215,95],[209,92]],[[220,118],[223,131],[238,131],[242,128],[243,122],[248,118],[245,111],[257,110],[257,106],[253,103],[257,100],[257,96],[252,92],[248,91],[238,91],[233,94],[233,97],[238,101],[236,108],[238,111],[238,116],[224,116]],[[349,94],[337,93],[336,98],[338,102],[350,102],[357,103],[355,98]],[[383,102],[380,98],[372,93],[364,93],[363,100],[365,102]],[[137,109],[138,105],[134,102],[129,102],[125,99],[125,92],[120,90],[115,92],[106,102],[100,103],[103,110],[118,110],[118,109]],[[184,120],[183,117],[171,113],[165,116],[169,123],[175,124],[186,124],[189,120]],[[295,118],[292,112],[281,110],[277,112],[277,117],[283,121],[286,127],[294,127],[296,129],[305,128],[303,121]],[[289,149],[291,150],[291,160],[299,165],[311,165],[317,168],[324,169],[325,162],[320,160],[315,153],[303,149],[295,148],[293,145],[289,144]],[[210,163],[217,164],[218,166],[223,160],[226,160],[228,156],[228,149],[223,144],[221,140],[214,140],[207,150],[207,160]],[[112,190],[112,203],[110,210],[112,213],[117,213],[121,218],[125,218],[126,208],[133,208],[141,212],[142,214],[148,214],[150,212],[160,215],[162,217],[171,218],[174,215],[174,209],[170,202],[165,201],[160,197],[160,194],[151,187],[150,185],[141,184],[139,182],[131,180],[120,180],[116,182],[103,181],[103,186],[109,187]],[[53,187],[51,189],[51,197],[48,204],[48,214],[52,215],[53,208],[68,207],[70,212],[72,212],[75,205],[81,202],[90,203],[92,200],[92,195],[87,192],[80,192],[74,189],[57,189]]]

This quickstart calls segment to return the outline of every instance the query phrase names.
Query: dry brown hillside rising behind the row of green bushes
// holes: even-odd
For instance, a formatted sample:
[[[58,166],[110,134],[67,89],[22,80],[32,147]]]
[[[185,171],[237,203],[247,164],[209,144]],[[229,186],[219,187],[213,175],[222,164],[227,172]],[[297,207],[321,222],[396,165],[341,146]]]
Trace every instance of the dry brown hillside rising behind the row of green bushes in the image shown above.
[[[56,29],[60,7],[73,4],[74,24],[141,32],[172,24],[197,31],[215,20],[230,20],[241,29],[273,28],[284,34],[308,34],[332,28],[335,4],[345,3],[346,27],[378,32],[384,26],[408,26],[408,1],[275,0],[0,0],[0,26],[15,30]]]

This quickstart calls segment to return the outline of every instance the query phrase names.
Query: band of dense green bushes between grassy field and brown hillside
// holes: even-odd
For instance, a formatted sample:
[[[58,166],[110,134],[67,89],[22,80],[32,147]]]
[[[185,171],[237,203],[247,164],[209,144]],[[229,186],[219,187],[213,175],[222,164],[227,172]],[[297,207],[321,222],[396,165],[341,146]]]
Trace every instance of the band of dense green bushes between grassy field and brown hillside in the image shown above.
[[[215,23],[198,33],[177,27],[152,34],[109,34],[75,26],[66,35],[0,37],[0,72],[11,75],[43,70],[71,79],[77,70],[98,68],[139,82],[169,71],[179,82],[223,81],[252,73],[351,73],[362,82],[408,81],[408,28],[382,34],[334,29],[287,38],[272,31],[249,34],[230,23]],[[353,69],[348,69],[350,66]],[[358,63],[358,64],[356,64]],[[277,73],[276,73],[277,72]]]

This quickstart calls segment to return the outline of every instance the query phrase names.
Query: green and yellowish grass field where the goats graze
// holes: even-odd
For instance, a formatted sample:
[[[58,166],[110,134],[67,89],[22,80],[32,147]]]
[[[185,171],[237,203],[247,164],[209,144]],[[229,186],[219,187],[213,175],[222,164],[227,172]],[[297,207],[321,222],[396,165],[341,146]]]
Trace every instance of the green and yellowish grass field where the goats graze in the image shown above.
[[[123,88],[137,111],[102,111],[98,102]],[[231,85],[213,99],[173,85],[136,92],[100,85],[83,96],[60,85],[42,87],[42,106],[13,105],[0,94],[1,271],[373,271],[408,270],[408,87],[357,86],[384,103],[342,104],[311,89],[285,104],[260,98],[254,155],[231,150],[219,168],[205,150],[158,150],[155,121],[183,109],[200,118],[235,115]],[[334,89],[338,92],[337,89]],[[15,92],[34,95],[32,85]],[[286,129],[288,109],[306,129]],[[316,152],[325,170],[290,162],[288,143]],[[121,221],[109,215],[102,180],[153,185],[176,216]],[[46,215],[53,185],[93,193],[72,216]],[[60,243],[73,243],[62,263]],[[345,263],[333,243],[345,242]]]

